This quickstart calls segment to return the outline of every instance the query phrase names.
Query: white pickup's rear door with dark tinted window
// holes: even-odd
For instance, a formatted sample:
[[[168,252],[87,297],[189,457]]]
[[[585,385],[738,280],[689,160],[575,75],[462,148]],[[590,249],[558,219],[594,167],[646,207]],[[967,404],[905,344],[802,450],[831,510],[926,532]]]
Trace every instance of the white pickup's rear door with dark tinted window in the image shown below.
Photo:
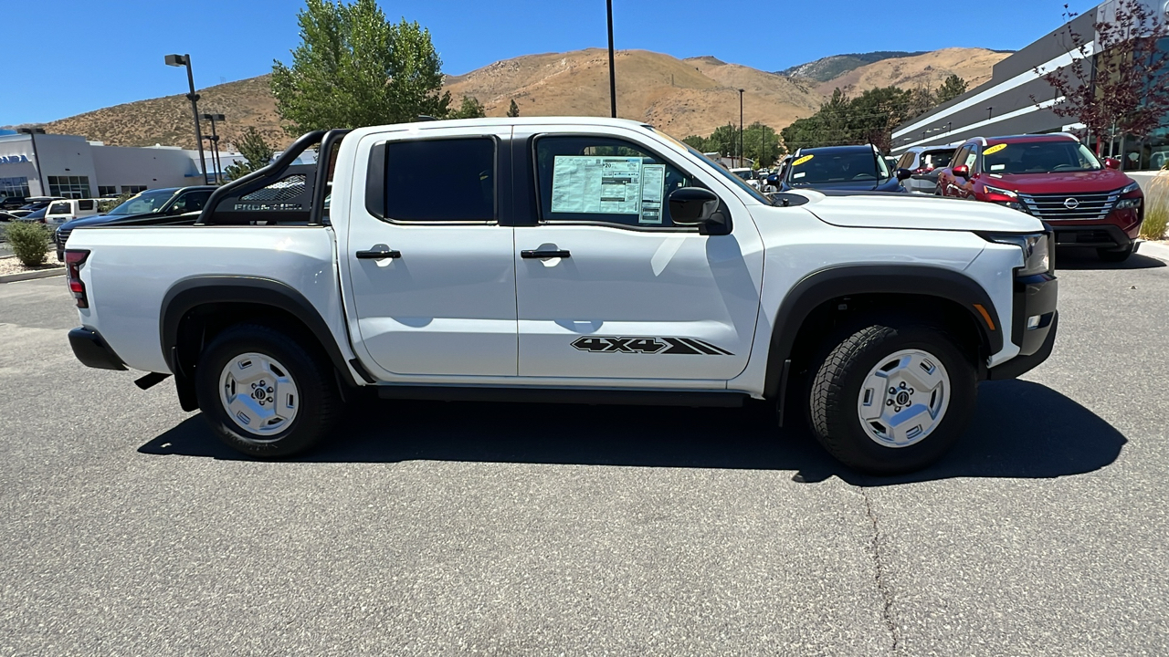
[[[343,255],[354,348],[379,379],[516,375],[513,229],[500,221],[510,134],[477,126],[362,138],[366,175],[353,177]]]

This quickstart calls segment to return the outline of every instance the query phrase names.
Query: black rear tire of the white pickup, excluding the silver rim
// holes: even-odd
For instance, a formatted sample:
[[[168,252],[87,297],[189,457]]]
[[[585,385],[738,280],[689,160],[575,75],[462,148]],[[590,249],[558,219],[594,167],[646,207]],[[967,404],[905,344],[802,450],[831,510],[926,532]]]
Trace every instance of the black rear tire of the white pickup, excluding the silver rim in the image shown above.
[[[299,406],[279,433],[261,437],[242,429],[221,401],[224,367],[245,353],[275,359],[296,383]],[[257,458],[281,458],[312,448],[330,431],[341,409],[332,368],[296,339],[258,324],[233,326],[212,341],[199,360],[195,390],[199,409],[215,435],[228,447]]]

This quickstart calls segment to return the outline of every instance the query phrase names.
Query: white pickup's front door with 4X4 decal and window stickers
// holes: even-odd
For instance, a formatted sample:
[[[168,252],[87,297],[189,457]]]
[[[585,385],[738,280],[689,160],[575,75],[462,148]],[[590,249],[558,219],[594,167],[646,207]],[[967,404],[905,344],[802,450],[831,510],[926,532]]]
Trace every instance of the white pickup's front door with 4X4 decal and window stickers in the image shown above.
[[[759,231],[729,182],[614,132],[517,134],[538,199],[532,224],[516,228],[519,373],[733,379],[759,317]],[[669,195],[682,187],[719,194],[731,233],[676,226]]]

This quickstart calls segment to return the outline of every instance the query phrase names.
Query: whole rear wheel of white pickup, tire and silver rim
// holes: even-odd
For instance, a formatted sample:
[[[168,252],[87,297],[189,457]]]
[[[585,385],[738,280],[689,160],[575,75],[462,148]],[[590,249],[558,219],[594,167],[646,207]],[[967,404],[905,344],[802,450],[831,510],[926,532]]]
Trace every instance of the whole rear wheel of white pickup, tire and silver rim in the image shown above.
[[[199,361],[195,385],[199,408],[219,438],[261,458],[314,445],[341,403],[327,365],[263,325],[220,333]]]

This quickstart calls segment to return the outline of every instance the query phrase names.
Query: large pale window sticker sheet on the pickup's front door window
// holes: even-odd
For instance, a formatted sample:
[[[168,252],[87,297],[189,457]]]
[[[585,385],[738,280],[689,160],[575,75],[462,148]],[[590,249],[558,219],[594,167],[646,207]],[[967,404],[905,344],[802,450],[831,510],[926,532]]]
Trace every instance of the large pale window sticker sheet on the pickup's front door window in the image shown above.
[[[556,155],[552,212],[641,215],[643,166],[642,158]],[[660,215],[660,195],[657,205]]]

